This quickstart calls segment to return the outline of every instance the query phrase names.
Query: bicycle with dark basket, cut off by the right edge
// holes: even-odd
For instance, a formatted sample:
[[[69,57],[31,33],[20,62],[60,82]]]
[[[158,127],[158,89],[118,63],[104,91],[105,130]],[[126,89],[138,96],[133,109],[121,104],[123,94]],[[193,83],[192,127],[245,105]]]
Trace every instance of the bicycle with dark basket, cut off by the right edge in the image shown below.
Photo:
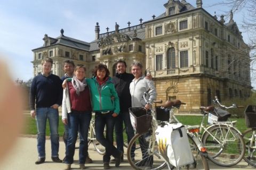
[[[245,110],[245,122],[247,129],[243,132],[243,137],[245,141],[245,155],[244,160],[256,167],[256,106],[249,105]]]

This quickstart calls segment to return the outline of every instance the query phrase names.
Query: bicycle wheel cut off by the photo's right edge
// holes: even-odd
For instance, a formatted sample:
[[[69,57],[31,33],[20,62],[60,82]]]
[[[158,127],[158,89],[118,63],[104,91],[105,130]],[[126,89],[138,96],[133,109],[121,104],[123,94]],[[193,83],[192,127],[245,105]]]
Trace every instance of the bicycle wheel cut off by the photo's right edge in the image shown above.
[[[243,132],[245,149],[246,149],[244,160],[248,164],[256,167],[256,140],[255,140],[256,137],[252,136],[253,135],[252,132],[253,132],[252,129],[247,129],[246,131]],[[252,144],[251,144],[251,140],[252,140]]]

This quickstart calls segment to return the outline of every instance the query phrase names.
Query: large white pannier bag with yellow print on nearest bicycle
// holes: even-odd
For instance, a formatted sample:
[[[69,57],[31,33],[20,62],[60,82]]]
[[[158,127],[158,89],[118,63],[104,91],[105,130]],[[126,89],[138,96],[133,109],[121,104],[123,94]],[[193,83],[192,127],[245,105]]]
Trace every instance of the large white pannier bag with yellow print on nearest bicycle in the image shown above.
[[[166,123],[156,130],[158,150],[169,165],[175,167],[194,163],[187,130],[181,123]]]

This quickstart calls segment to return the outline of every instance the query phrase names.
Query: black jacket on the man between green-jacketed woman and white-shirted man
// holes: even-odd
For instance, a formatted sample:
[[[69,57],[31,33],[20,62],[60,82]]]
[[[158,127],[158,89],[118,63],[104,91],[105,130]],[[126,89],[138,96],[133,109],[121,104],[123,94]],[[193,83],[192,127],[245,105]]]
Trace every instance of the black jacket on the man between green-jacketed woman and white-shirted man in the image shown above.
[[[115,89],[119,97],[121,112],[127,112],[129,107],[132,106],[130,83],[134,76],[130,73],[118,74],[113,77],[112,82],[115,84]]]

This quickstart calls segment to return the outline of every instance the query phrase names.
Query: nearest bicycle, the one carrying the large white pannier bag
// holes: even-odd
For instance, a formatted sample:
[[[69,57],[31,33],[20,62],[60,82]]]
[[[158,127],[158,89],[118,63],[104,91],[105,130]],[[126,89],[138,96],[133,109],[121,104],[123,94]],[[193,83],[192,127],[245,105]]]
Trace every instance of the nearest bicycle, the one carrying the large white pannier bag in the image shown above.
[[[145,99],[146,103],[148,101],[146,100],[147,92],[144,93],[143,98]],[[153,103],[162,103],[162,101],[154,101]],[[146,119],[149,121],[145,121],[145,124],[142,126],[145,128],[147,126],[147,122],[149,122],[149,125],[151,125],[150,129],[146,128],[145,130],[142,130],[144,132],[140,133],[137,129],[137,134],[134,135],[132,140],[130,141],[128,148],[127,148],[127,159],[132,168],[134,169],[162,169],[166,166],[166,162],[162,158],[162,155],[158,151],[158,145],[156,141],[156,135],[155,131],[157,129],[158,124],[162,123],[169,123],[171,121],[177,121],[175,120],[175,116],[173,115],[172,110],[174,108],[179,108],[181,103],[180,100],[175,100],[175,102],[169,103],[169,105],[166,105],[165,108],[170,108],[167,110],[167,112],[170,113],[169,121],[157,121],[157,113],[156,110],[153,108],[151,109],[151,115],[144,115]],[[129,108],[130,112],[133,112],[132,109],[136,108]],[[143,108],[138,108],[143,109]],[[146,111],[146,110],[145,110]],[[167,113],[165,112],[167,115]],[[151,117],[151,119],[150,119]],[[133,122],[133,121],[132,121]],[[138,124],[137,124],[138,125]],[[178,169],[186,168],[186,169],[209,169],[209,165],[206,160],[207,152],[205,152],[205,149],[202,147],[201,141],[190,132],[187,132],[189,141],[190,141],[190,147],[193,151],[193,157],[194,157],[194,163],[184,166],[184,167],[178,167]],[[139,145],[140,143],[140,145]],[[144,144],[144,145],[142,145]],[[135,156],[132,155],[132,146],[140,146],[140,149],[135,149]],[[154,161],[153,161],[154,160]],[[147,167],[148,164],[152,164],[151,166]],[[171,169],[175,168],[174,166],[171,167]]]

